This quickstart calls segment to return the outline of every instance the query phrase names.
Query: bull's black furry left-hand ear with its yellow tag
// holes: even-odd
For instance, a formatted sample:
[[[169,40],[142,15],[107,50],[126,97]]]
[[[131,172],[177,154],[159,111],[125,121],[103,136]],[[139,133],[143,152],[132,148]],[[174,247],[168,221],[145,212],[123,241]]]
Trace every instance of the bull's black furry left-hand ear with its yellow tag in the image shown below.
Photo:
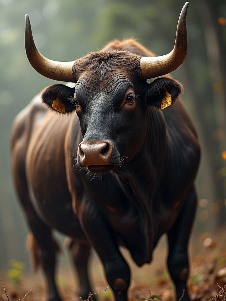
[[[46,87],[41,92],[41,99],[51,110],[63,114],[75,110],[74,88],[69,88],[62,84]]]

